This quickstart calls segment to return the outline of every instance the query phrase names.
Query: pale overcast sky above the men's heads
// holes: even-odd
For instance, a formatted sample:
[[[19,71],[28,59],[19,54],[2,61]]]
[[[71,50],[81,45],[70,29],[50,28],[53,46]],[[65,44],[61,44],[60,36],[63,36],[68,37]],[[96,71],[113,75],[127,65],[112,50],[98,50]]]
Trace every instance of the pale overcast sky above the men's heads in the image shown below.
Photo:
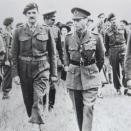
[[[92,18],[104,12],[115,13],[120,19],[131,22],[131,0],[0,0],[0,25],[8,16],[15,18],[15,23],[24,21],[22,14],[25,5],[36,2],[40,15],[44,12],[57,10],[57,21],[66,22],[71,19],[71,8],[81,7],[91,12]]]

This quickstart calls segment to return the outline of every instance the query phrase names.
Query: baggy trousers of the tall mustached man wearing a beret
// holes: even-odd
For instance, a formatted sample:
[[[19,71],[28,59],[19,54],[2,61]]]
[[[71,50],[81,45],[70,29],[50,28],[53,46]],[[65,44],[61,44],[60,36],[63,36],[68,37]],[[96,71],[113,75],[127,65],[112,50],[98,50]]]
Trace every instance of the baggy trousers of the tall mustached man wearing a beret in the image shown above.
[[[18,73],[29,122],[44,124],[46,93],[49,88],[49,63],[47,60],[19,60]],[[44,105],[44,106],[43,106]]]

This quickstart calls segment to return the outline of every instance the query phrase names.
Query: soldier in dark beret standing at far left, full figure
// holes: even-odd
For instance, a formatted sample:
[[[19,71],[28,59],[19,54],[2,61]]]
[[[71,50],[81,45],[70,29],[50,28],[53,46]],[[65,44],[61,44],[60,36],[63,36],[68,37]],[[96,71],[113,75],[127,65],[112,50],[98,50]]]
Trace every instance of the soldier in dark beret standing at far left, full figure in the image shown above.
[[[12,29],[13,29],[13,21],[14,19],[12,17],[6,18],[3,22],[3,25],[5,26],[3,39],[5,42],[5,49],[6,49],[6,55],[5,55],[5,62],[3,65],[4,70],[4,76],[3,76],[3,82],[2,82],[2,91],[3,91],[3,97],[2,99],[8,99],[9,98],[9,92],[12,89],[12,76],[11,76],[11,67],[12,67],[12,56],[11,56],[11,44],[12,44]]]

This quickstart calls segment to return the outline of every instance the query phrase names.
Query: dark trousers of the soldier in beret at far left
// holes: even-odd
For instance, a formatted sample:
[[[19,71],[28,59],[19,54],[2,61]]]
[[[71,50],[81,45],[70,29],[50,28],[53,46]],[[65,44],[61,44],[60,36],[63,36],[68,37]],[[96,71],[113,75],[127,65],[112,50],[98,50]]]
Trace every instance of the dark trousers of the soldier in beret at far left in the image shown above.
[[[12,75],[11,75],[11,66],[3,66],[3,81],[2,81],[2,91],[4,93],[9,93],[12,89]]]

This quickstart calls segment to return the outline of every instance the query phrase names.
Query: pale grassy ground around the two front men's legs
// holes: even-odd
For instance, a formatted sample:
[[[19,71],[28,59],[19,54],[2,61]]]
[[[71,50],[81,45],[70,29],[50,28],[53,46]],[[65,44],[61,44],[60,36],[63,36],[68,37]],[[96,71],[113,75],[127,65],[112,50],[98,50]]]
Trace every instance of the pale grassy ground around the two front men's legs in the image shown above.
[[[103,89],[104,98],[97,99],[93,131],[131,131],[131,97],[117,96],[112,85]],[[0,93],[0,131],[30,131],[20,87],[13,86],[9,100]],[[78,131],[72,103],[65,88],[57,90],[56,106],[47,115],[44,131]]]

